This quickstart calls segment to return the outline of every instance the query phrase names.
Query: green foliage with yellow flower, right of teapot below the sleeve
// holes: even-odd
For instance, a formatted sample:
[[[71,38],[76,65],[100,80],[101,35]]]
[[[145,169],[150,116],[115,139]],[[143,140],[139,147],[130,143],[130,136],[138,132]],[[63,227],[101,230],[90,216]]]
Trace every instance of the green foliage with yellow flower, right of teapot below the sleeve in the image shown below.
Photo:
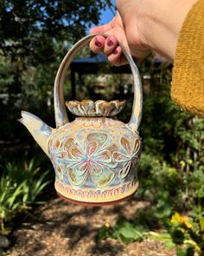
[[[150,204],[137,210],[134,219],[118,220],[99,234],[124,242],[163,240],[167,248],[176,247],[178,256],[203,255],[204,120],[170,101],[170,67],[151,65],[141,67],[150,81],[143,81],[143,153],[136,194],[137,200]]]

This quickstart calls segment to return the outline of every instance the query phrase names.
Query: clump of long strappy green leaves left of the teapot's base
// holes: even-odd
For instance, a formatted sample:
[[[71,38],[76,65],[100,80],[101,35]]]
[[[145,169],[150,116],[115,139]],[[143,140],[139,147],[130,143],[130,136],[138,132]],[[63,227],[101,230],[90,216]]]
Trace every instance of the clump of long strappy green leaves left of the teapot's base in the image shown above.
[[[5,233],[5,223],[16,213],[27,212],[33,204],[41,203],[37,196],[48,186],[48,170],[41,173],[35,158],[30,161],[7,162],[0,178],[0,223]]]

